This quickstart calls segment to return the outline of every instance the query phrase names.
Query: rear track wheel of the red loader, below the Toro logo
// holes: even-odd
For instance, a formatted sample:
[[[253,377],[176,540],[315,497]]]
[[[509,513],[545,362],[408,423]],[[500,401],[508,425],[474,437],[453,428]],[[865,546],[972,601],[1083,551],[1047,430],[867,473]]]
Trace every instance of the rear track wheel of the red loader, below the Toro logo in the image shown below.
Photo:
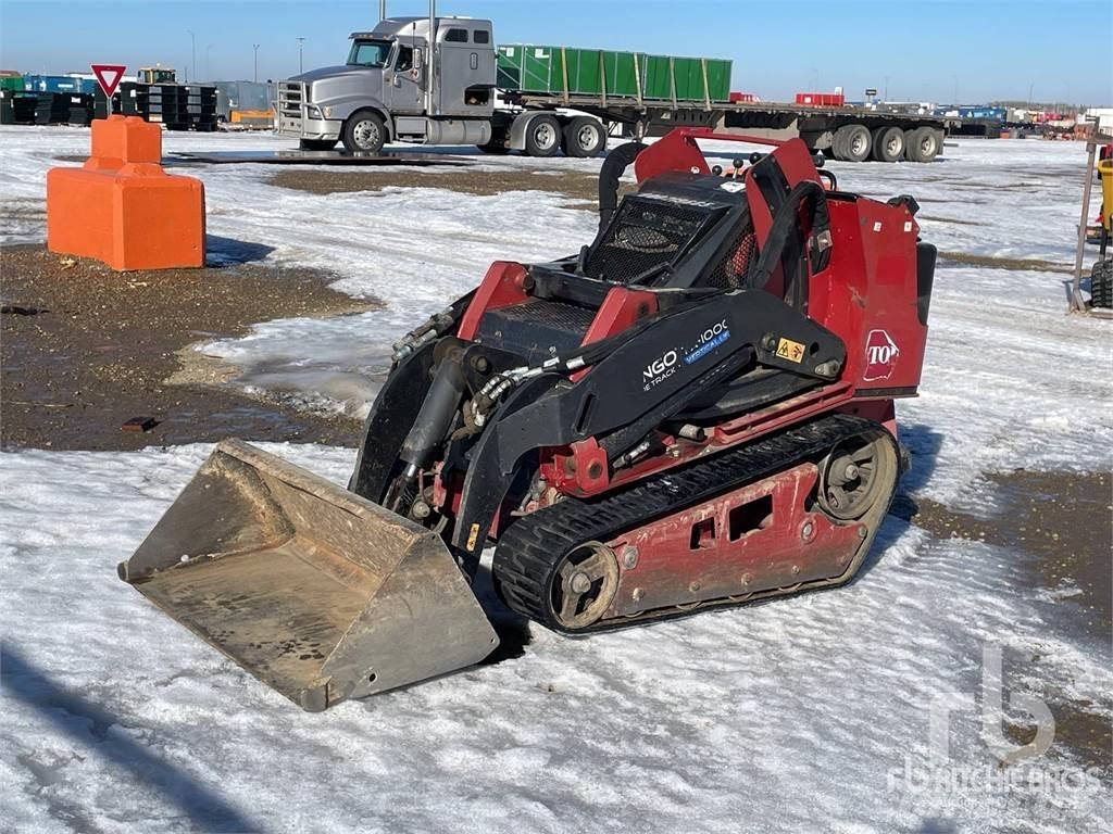
[[[839,443],[819,465],[819,506],[831,518],[853,522],[893,496],[897,457],[887,437],[858,435]]]

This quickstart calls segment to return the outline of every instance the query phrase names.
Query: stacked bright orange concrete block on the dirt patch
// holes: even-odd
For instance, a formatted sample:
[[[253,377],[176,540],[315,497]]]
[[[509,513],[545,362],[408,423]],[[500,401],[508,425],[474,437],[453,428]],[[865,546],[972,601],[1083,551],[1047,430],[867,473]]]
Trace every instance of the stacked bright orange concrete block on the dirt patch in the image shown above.
[[[169,176],[161,158],[157,125],[95,121],[85,166],[47,172],[47,248],[117,270],[205,266],[205,187]]]

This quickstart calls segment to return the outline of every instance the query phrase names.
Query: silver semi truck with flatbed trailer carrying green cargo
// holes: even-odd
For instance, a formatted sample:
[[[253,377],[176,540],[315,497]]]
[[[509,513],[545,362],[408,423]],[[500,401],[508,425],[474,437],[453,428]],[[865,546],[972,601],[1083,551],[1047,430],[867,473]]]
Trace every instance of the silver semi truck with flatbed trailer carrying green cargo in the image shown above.
[[[303,149],[378,153],[386,142],[490,153],[600,153],[608,136],[709,127],[799,136],[845,161],[932,161],[955,119],[865,108],[731,101],[730,61],[565,47],[495,47],[490,20],[386,18],[349,36],[347,61],[276,86],[279,136]]]

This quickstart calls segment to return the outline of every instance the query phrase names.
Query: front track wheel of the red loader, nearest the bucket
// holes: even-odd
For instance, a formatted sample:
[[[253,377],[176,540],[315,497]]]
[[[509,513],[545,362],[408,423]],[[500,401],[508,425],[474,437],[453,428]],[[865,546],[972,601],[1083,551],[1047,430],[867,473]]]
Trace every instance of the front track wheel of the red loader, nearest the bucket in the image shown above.
[[[619,584],[614,552],[585,542],[567,553],[549,576],[549,612],[564,631],[593,625],[610,606]]]

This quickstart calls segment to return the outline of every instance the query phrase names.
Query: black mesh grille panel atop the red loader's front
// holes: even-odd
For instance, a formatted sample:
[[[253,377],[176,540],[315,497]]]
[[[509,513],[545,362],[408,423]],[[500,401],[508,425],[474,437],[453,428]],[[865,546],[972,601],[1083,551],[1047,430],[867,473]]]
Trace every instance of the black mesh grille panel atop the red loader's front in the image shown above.
[[[630,284],[654,267],[674,262],[711,217],[711,210],[699,206],[627,197],[584,269],[593,278]]]

